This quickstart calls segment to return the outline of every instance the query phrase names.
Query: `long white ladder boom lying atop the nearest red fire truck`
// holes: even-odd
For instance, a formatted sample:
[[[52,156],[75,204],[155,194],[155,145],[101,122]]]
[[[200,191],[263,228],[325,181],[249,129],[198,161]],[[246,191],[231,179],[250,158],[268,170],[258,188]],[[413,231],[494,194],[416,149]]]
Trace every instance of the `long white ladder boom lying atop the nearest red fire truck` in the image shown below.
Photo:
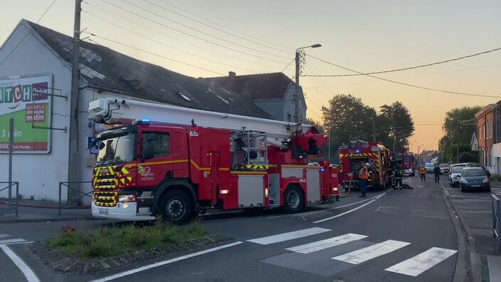
[[[207,110],[182,108],[122,98],[101,98],[89,103],[89,117],[98,123],[113,124],[120,120],[152,120],[176,125],[191,125],[194,120],[201,127],[212,127],[231,131],[248,130],[265,132],[268,144],[281,147],[282,141],[292,137],[297,124],[280,120],[267,120]],[[302,132],[311,125],[301,125]]]

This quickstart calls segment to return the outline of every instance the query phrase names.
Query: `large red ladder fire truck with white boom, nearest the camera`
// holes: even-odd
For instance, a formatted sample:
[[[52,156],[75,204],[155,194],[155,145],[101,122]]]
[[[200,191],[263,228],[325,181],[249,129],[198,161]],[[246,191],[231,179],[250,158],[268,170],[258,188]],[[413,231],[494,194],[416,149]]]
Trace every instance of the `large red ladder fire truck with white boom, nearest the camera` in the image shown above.
[[[293,213],[339,195],[337,167],[307,162],[327,142],[311,125],[116,98],[89,113],[120,124],[97,135],[93,216],[182,223],[206,209]]]

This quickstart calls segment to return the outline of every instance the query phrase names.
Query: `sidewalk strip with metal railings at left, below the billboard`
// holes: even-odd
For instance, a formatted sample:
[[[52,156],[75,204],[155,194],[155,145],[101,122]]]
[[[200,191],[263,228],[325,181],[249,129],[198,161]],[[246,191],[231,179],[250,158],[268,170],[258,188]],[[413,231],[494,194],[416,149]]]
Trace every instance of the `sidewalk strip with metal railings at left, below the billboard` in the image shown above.
[[[99,220],[90,213],[89,207],[61,209],[58,215],[58,202],[19,199],[18,216],[16,209],[8,208],[8,201],[0,199],[0,224],[16,222],[64,221],[64,220]],[[16,202],[14,201],[15,205]]]

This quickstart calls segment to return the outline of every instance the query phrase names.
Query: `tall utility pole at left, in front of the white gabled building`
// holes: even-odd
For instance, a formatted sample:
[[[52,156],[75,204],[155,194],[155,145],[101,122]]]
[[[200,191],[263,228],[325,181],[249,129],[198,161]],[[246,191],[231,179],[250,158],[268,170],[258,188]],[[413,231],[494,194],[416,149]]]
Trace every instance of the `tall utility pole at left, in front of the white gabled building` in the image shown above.
[[[73,60],[71,61],[70,97],[70,137],[68,151],[68,182],[78,181],[78,95],[80,93],[80,12],[82,0],[75,0],[75,23],[73,24]],[[75,183],[76,184],[76,183]],[[70,189],[68,183],[68,202],[78,197],[77,191]],[[75,185],[78,187],[78,185]],[[78,189],[78,188],[77,188]]]

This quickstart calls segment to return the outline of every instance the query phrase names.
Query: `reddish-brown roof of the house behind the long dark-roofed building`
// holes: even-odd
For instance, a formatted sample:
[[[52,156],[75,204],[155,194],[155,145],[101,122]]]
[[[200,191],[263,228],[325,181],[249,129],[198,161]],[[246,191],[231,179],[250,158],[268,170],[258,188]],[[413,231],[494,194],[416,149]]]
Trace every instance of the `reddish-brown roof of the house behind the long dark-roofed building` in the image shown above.
[[[294,84],[284,73],[258,73],[200,80],[208,82],[212,87],[226,88],[253,99],[283,98],[289,84]]]

